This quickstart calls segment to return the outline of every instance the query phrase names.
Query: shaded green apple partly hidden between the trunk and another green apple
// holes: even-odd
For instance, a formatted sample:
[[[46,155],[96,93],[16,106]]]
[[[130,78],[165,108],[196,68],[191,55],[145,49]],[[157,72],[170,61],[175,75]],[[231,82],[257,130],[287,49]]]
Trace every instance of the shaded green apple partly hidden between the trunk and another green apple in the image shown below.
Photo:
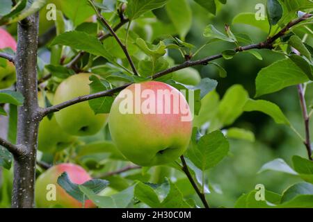
[[[47,93],[47,97],[51,103],[53,96],[53,94]],[[45,107],[45,100],[41,92],[38,93],[38,103],[40,107]],[[58,126],[54,115],[51,119],[44,117],[40,122],[38,130],[38,150],[44,153],[54,154],[70,146],[74,140],[75,137],[65,133],[64,130]]]

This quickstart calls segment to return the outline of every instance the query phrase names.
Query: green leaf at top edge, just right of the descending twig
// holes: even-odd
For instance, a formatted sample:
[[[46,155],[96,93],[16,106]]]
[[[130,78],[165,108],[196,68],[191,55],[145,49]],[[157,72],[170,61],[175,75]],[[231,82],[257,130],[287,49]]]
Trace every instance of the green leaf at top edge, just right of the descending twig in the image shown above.
[[[168,0],[129,0],[126,13],[129,19],[134,20],[145,12],[163,7]]]

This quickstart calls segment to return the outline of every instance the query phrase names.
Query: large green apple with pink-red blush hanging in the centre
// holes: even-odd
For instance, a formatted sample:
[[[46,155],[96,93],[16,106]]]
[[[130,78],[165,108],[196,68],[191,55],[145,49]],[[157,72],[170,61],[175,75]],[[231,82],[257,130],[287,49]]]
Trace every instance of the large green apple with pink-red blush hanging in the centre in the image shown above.
[[[136,83],[115,98],[109,129],[113,142],[131,162],[144,167],[166,164],[186,151],[191,111],[174,87],[156,81]]]

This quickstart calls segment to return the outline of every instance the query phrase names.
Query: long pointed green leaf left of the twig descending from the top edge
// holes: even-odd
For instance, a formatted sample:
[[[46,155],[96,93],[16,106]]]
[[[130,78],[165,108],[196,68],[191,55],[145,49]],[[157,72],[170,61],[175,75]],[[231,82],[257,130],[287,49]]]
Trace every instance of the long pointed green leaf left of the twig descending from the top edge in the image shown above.
[[[51,45],[61,44],[70,46],[77,50],[83,50],[95,56],[103,56],[108,60],[113,60],[112,56],[102,43],[93,35],[88,35],[81,31],[70,31],[58,35]]]

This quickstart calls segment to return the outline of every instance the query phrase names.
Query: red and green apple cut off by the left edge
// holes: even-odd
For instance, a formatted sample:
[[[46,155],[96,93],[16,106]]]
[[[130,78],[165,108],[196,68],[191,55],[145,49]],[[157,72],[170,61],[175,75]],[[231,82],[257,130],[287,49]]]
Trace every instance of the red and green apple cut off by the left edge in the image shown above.
[[[16,51],[15,39],[3,28],[0,28],[0,49],[11,48]],[[15,67],[7,62],[6,67],[0,67],[0,89],[6,89],[15,82]]]

